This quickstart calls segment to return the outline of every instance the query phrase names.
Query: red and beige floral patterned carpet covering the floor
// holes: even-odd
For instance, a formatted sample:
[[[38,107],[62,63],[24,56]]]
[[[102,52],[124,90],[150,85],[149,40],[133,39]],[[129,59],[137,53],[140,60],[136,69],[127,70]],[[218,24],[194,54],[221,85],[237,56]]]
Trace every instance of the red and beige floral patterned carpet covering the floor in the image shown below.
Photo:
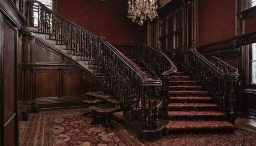
[[[256,146],[256,129],[236,123],[231,134],[166,135],[155,142],[141,142],[122,124],[111,120],[106,129],[90,125],[89,109],[69,109],[29,114],[20,146]]]

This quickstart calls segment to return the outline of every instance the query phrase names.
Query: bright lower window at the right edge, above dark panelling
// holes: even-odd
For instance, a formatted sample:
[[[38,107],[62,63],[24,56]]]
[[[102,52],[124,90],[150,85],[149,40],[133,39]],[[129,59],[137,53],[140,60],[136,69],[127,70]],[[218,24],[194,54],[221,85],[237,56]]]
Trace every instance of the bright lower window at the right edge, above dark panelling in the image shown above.
[[[251,83],[256,84],[256,43],[252,44]]]

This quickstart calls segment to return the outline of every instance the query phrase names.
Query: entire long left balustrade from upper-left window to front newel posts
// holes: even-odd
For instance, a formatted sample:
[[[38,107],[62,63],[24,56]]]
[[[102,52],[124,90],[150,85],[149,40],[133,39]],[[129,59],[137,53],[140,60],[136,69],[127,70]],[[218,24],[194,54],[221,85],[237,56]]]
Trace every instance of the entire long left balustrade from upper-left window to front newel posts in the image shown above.
[[[38,28],[38,32],[49,34],[49,39],[56,40],[57,44],[66,46],[66,49],[73,50],[73,54],[80,55],[82,60],[89,60],[91,64],[102,66],[103,83],[122,99],[125,117],[131,121],[137,120],[140,123],[140,129],[163,130],[157,113],[162,80],[147,78],[144,72],[140,71],[104,37],[91,34],[55,14],[38,1],[29,1],[27,21],[29,26]],[[152,71],[167,78],[176,68],[165,65],[169,60],[162,59],[160,54],[158,56],[159,63],[155,63],[156,67]],[[153,67],[150,66],[150,68]],[[157,72],[157,69],[161,72]],[[166,89],[164,91],[167,92]]]

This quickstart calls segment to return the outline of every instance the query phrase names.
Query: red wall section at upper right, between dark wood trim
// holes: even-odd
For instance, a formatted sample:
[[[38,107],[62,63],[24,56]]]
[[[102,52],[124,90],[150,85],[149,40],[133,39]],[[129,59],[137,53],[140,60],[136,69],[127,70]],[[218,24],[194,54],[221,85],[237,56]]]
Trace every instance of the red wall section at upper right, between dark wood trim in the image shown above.
[[[198,45],[235,36],[235,0],[198,0]]]

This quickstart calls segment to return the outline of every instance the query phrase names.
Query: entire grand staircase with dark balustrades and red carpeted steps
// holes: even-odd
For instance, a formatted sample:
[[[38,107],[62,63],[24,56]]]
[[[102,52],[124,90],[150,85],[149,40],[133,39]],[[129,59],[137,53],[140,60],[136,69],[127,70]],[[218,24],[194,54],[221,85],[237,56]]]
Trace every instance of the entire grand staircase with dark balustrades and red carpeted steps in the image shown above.
[[[203,57],[192,58],[192,52],[184,55],[184,64],[190,71],[183,66],[176,72],[175,64],[163,52],[138,42],[132,43],[131,55],[125,57],[104,37],[97,37],[39,5],[44,15],[35,37],[72,58],[101,83],[97,91],[87,92],[84,100],[92,110],[91,124],[109,127],[110,117],[113,117],[133,129],[142,140],[157,140],[166,133],[233,132],[230,122],[236,117],[232,115],[233,89],[229,88],[236,82],[237,75],[228,82],[230,78],[218,75],[227,73]],[[48,18],[52,23],[43,21]],[[52,27],[45,27],[48,24]],[[218,64],[237,73],[223,62],[218,61]],[[197,73],[192,69],[204,70]],[[224,90],[228,94],[213,91],[217,89],[215,80],[220,91],[221,83],[228,83]],[[207,86],[209,81],[212,83]],[[166,122],[161,123],[159,117],[166,117],[166,114],[168,124],[164,125]]]

